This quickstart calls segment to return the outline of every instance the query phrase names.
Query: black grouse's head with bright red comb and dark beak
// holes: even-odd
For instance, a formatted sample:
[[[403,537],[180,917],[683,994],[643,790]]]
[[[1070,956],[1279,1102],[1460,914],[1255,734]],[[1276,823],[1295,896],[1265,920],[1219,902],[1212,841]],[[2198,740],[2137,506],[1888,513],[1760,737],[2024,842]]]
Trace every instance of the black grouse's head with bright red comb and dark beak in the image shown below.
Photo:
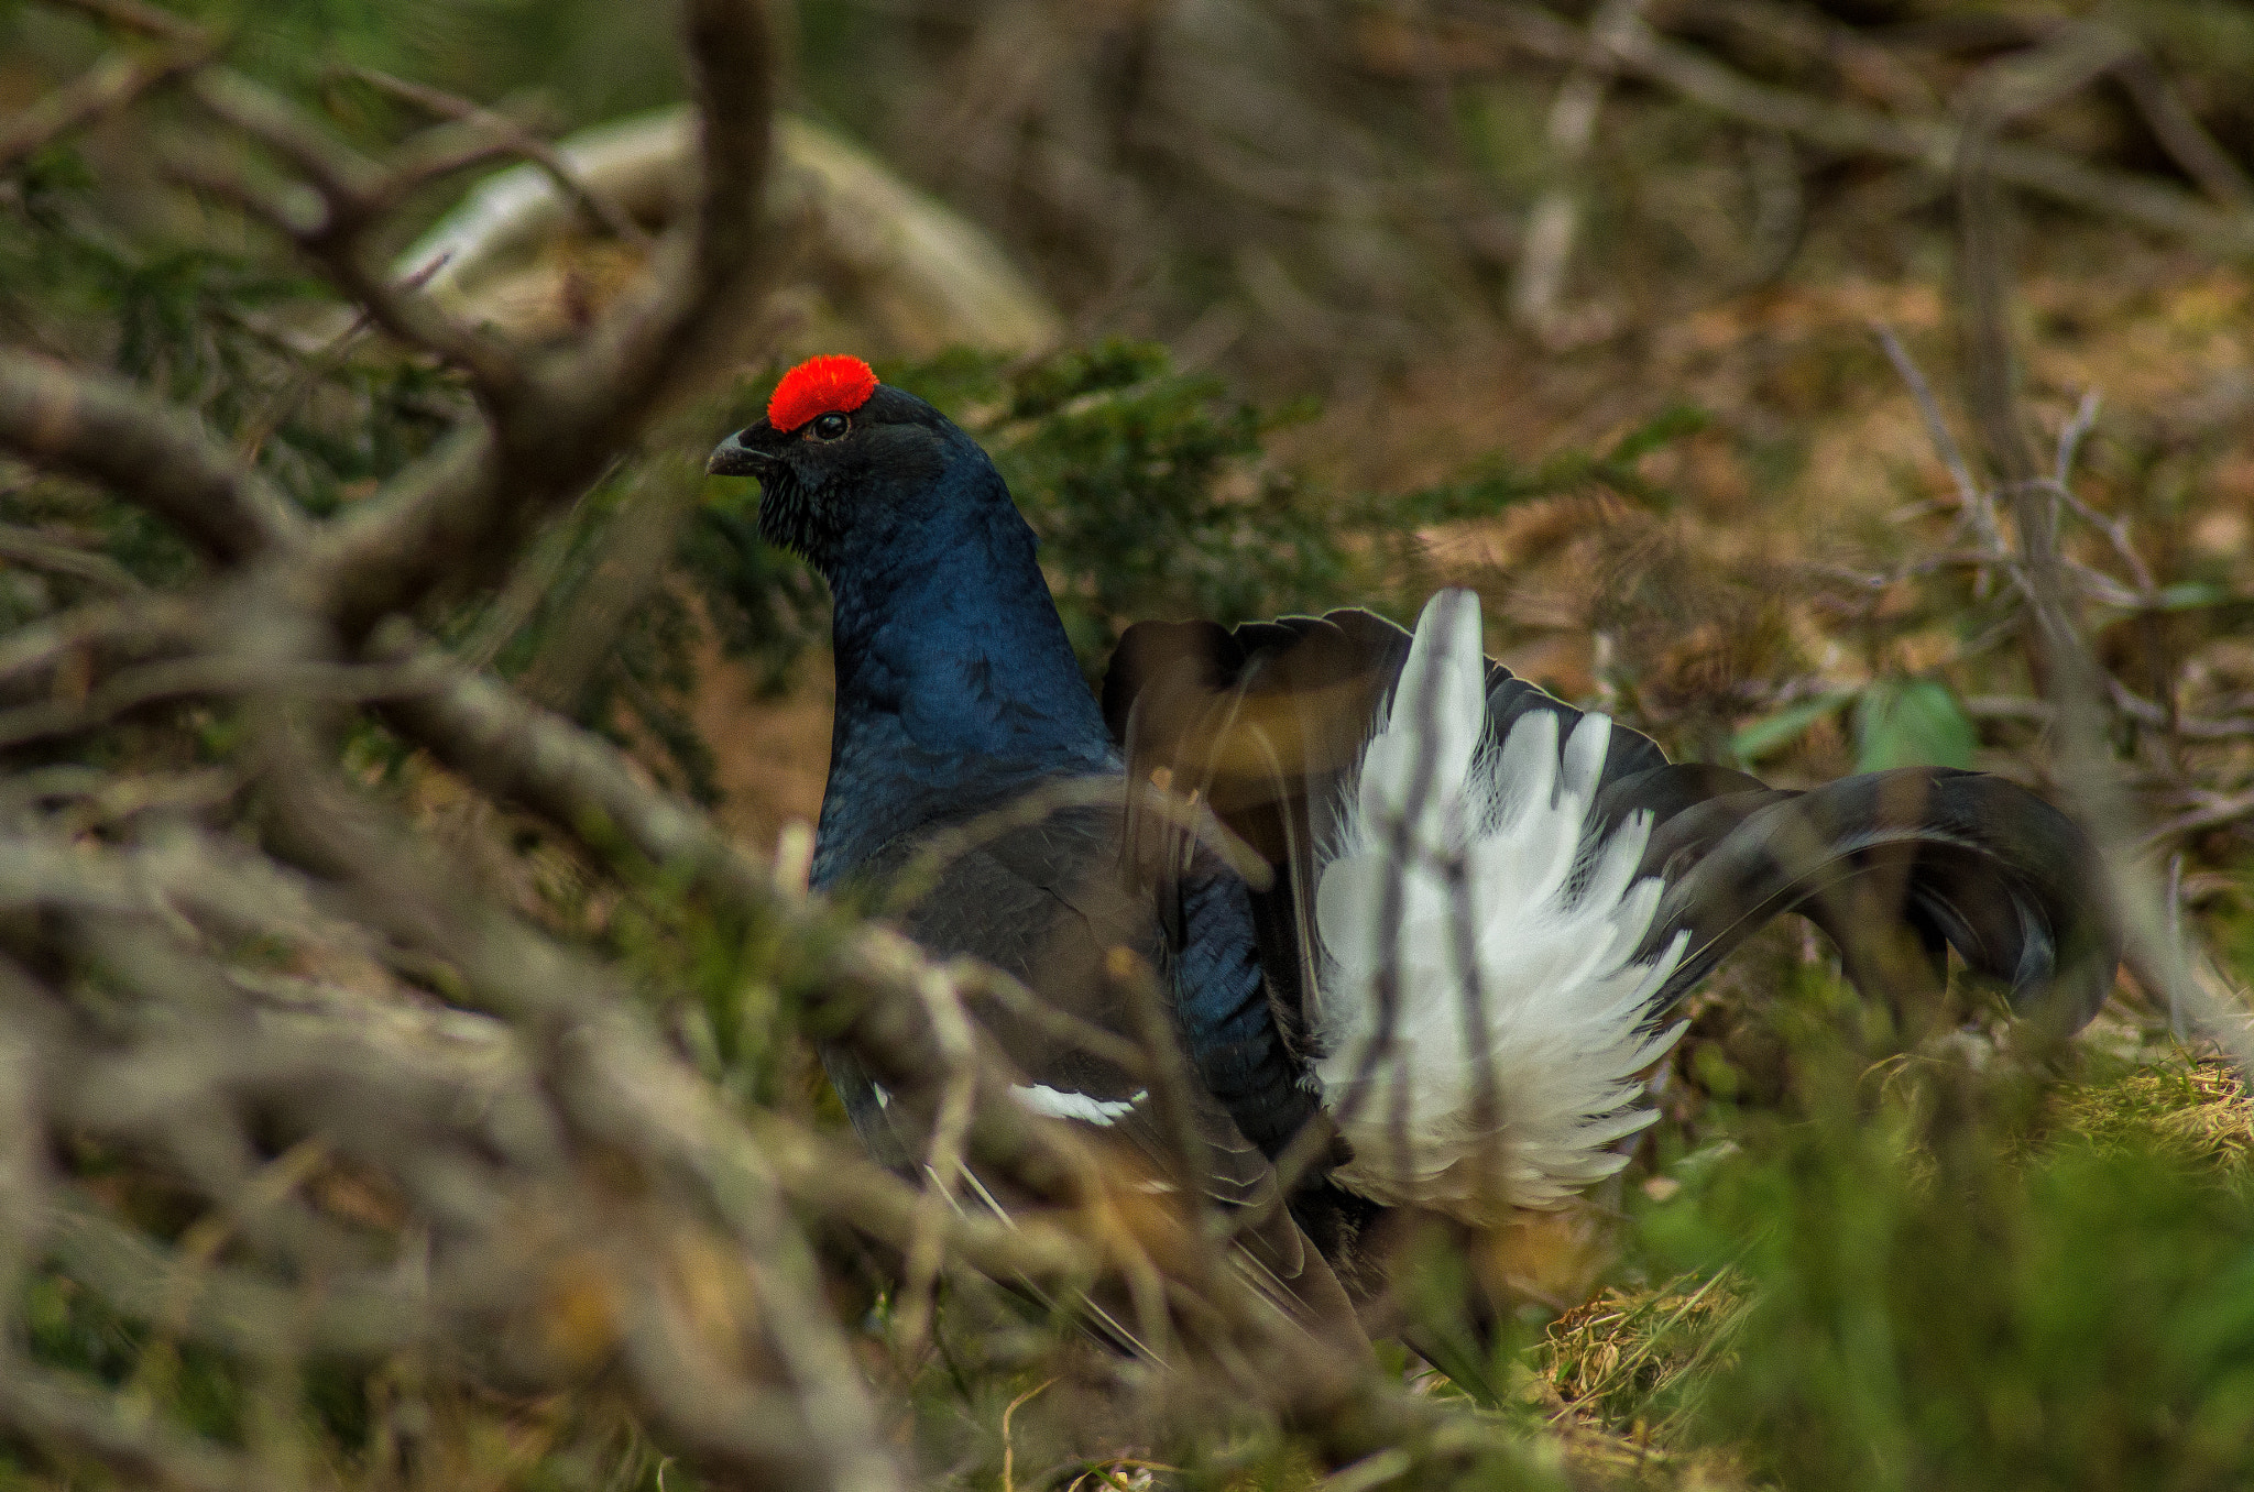
[[[724,439],[706,471],[760,478],[760,536],[836,579],[863,554],[904,554],[1010,507],[978,444],[850,356],[782,376],[766,419]]]

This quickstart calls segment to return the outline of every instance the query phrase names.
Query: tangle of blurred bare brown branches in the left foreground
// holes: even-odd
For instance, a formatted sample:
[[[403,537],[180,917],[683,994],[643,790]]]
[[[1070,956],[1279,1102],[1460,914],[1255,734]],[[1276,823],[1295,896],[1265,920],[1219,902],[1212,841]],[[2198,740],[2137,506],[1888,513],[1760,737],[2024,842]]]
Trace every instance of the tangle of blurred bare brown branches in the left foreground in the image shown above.
[[[151,590],[16,541],[92,595],[65,590],[0,640],[0,1285],[54,1282],[74,1309],[115,1314],[137,1366],[124,1384],[61,1382],[5,1357],[0,1429],[56,1465],[137,1481],[309,1485],[304,1384],[374,1361],[406,1400],[383,1431],[399,1445],[449,1391],[600,1379],[708,1483],[884,1492],[908,1476],[890,1400],[827,1294],[827,1251],[852,1246],[906,1262],[908,1355],[949,1282],[1066,1314],[1113,1300],[1170,1343],[1163,1373],[1179,1375],[1116,1359],[1136,1393],[1163,1402],[1219,1375],[1244,1415],[1334,1465],[1476,1454],[1481,1433],[1219,1267],[1226,1226],[1204,1204],[1152,1201],[1012,1095],[962,1010],[990,998],[1041,1019],[1026,989],[809,899],[618,746],[431,640],[534,566],[534,536],[624,449],[674,439],[667,415],[760,325],[760,7],[683,7],[696,104],[669,137],[683,156],[694,144],[687,207],[584,336],[543,345],[464,316],[433,266],[401,275],[379,246],[412,192],[496,156],[532,158],[559,198],[640,232],[570,156],[392,77],[363,81],[437,122],[363,149],[207,61],[212,38],[185,20],[128,0],[81,9],[194,52],[176,101],[210,128],[167,140],[158,167],[329,282],[349,318],[316,358],[334,372],[374,327],[460,397],[390,476],[316,514],[277,480],[268,437],[322,365],[291,370],[252,435],[230,439],[142,383],[0,349],[0,451],[187,550]],[[597,645],[674,548],[667,514],[645,507],[618,518],[633,595],[586,618]],[[701,1071],[654,1019],[624,933],[476,874],[370,753],[419,753],[417,773],[561,829],[604,895],[674,920],[683,942],[757,947],[726,1001],[751,985],[787,996],[778,1041],[818,1030],[890,1102],[944,1120],[922,1185],[845,1154],[805,1104],[746,1102]],[[658,1005],[681,1010],[672,992]],[[1132,1057],[1159,1073],[1179,1055],[1145,1014]],[[1008,1215],[985,1185],[971,1195],[971,1161],[1012,1195]],[[135,1210],[144,1192],[162,1226]],[[207,1361],[241,1384],[237,1406],[183,1424],[171,1384]],[[367,1472],[412,1481],[403,1460]]]

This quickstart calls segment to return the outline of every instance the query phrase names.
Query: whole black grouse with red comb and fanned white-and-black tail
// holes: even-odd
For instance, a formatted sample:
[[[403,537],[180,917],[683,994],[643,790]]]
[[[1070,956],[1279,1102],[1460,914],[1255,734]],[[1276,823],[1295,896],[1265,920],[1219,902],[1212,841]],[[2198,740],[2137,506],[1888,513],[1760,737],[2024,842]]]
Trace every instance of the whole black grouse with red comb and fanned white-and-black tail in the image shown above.
[[[762,532],[832,584],[816,886],[897,877],[951,836],[895,908],[935,953],[1125,1037],[1118,951],[1154,969],[1206,1190],[1258,1197],[1310,1122],[1334,1127],[1292,1215],[1350,1285],[1370,1280],[1346,1240],[1377,1208],[1492,1219],[1618,1170],[1672,1005],[1781,911],[1896,998],[1929,992],[1947,947],[2062,1021],[2103,998],[2087,845],[2024,789],[1909,769],[1785,793],[1670,764],[1485,660],[1470,593],[1416,633],[1359,611],[1138,624],[1098,705],[985,453],[902,390],[823,379],[787,379],[787,417],[712,462],[762,478]],[[992,818],[1059,787],[1071,807]],[[1165,1172],[1136,1075],[974,1014],[1028,1109]],[[872,1149],[913,1165],[884,1091],[827,1059]],[[1258,1269],[1334,1296],[1303,1242],[1271,1228]]]

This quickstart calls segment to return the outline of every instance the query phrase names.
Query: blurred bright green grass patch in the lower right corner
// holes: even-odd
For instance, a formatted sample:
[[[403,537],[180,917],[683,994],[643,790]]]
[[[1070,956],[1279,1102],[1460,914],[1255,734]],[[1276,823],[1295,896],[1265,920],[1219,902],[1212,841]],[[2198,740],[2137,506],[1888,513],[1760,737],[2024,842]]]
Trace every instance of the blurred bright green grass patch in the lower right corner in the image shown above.
[[[2254,1197],[2204,1068],[2040,1084],[1803,1041],[1799,1118],[1636,1219],[1591,1413],[1754,1456],[1787,1487],[2216,1487],[2254,1476]],[[2238,1122],[2243,1129],[2243,1120]],[[1571,1343],[1571,1350],[1569,1350]],[[1700,1361],[1697,1393],[1670,1361]],[[1616,1366],[1614,1366],[1616,1364]]]

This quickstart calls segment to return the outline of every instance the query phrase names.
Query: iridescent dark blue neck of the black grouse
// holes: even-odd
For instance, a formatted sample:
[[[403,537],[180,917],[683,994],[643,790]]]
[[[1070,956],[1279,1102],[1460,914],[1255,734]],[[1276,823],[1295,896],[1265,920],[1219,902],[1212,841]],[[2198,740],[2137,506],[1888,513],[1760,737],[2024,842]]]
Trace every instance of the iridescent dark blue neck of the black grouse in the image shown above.
[[[965,442],[967,444],[967,442]],[[1044,778],[1118,771],[1001,476],[956,462],[832,566],[836,723],[814,879]]]

